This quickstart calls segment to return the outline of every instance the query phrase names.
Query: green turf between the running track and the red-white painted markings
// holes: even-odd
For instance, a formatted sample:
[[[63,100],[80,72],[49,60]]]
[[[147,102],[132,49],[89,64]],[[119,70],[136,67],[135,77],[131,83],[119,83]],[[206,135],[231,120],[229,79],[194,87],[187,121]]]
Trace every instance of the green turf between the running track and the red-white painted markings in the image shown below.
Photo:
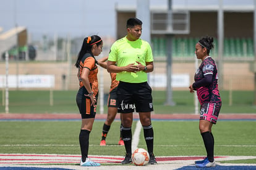
[[[216,156],[256,156],[255,121],[219,121],[213,126]],[[132,129],[135,129],[136,121]],[[111,125],[106,147],[101,147],[103,121],[95,121],[90,134],[90,155],[124,156],[118,146],[120,121]],[[156,156],[205,156],[197,121],[153,121]],[[80,121],[2,121],[1,153],[79,155]],[[134,139],[135,140],[135,139]],[[138,148],[147,148],[143,130]],[[255,159],[256,161],[256,159]],[[245,161],[246,163],[246,161]]]

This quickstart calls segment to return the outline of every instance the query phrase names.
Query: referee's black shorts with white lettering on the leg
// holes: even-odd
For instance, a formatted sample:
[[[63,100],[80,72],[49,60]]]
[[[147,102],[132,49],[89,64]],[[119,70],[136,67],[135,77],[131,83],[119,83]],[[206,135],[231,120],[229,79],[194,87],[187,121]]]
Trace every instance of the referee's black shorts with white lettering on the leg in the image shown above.
[[[117,87],[117,112],[132,113],[153,111],[151,87],[147,82],[119,82]]]

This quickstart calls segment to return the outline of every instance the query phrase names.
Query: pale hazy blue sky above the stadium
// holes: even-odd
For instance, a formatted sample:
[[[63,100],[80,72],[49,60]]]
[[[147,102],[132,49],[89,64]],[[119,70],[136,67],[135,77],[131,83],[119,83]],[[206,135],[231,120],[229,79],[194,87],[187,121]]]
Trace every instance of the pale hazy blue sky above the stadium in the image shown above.
[[[254,0],[223,0],[223,4],[252,4]],[[27,27],[36,35],[116,35],[115,4],[136,6],[137,0],[1,0],[0,27],[4,31]],[[218,0],[173,0],[174,5],[211,5]],[[150,0],[150,6],[167,6],[168,0]]]

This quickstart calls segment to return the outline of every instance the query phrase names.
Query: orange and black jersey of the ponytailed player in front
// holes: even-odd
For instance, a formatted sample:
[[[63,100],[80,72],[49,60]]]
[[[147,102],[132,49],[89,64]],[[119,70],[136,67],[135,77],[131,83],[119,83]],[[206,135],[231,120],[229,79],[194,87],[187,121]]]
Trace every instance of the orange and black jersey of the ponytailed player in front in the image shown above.
[[[86,53],[82,57],[82,59],[80,61],[80,64],[79,64],[79,72],[77,74],[77,77],[79,79],[80,88],[83,87],[83,82],[82,82],[82,79],[81,79],[81,74],[82,74],[83,69],[89,69],[90,70],[90,74],[88,75],[88,78],[89,78],[89,82],[90,82],[90,85],[92,87],[94,96],[96,96],[97,93],[98,93],[98,77],[97,77],[98,67],[96,66],[95,58],[92,57],[92,55],[89,54],[89,53]]]

